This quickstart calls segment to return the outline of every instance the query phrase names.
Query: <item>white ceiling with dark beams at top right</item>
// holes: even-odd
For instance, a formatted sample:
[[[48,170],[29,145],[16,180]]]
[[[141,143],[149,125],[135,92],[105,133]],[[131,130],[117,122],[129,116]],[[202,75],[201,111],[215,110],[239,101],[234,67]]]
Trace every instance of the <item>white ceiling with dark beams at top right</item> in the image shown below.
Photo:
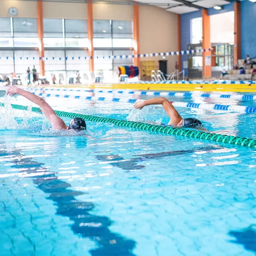
[[[194,12],[200,10],[200,8],[212,8],[216,5],[222,6],[230,4],[231,1],[226,0],[137,0],[144,4],[150,4],[164,8],[168,12],[175,12],[183,14],[187,12]],[[185,2],[185,3],[184,3]],[[189,4],[196,6],[189,6]]]

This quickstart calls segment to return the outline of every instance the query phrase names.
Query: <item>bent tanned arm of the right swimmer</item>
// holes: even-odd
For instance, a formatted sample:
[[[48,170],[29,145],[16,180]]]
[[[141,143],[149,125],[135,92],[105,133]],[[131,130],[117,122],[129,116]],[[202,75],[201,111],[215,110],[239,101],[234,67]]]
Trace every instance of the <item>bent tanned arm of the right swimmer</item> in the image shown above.
[[[170,117],[170,122],[168,123],[170,125],[177,125],[183,120],[183,118],[180,116],[179,112],[164,97],[136,102],[134,104],[134,108],[142,109],[144,106],[148,106],[148,105],[162,105],[164,110]]]

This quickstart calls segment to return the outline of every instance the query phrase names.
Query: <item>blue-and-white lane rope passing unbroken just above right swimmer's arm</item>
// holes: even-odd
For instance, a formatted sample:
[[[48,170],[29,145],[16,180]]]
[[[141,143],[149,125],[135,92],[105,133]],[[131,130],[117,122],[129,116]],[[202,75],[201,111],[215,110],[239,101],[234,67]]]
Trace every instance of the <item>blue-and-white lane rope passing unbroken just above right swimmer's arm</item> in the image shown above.
[[[72,90],[72,89],[65,89],[65,88],[60,88],[60,89],[54,89],[54,88],[26,88],[22,87],[24,90],[28,90],[30,92],[35,92],[35,91],[56,91],[56,92],[94,92],[94,93],[111,93],[111,94],[133,94],[133,95],[148,95],[148,96],[171,96],[171,97],[178,97],[178,98],[193,98],[193,97],[198,97],[198,98],[229,98],[229,99],[234,99],[234,100],[256,100],[256,95],[253,94],[217,94],[217,93],[205,93],[205,92],[140,92],[140,91],[132,91],[128,89],[124,90],[109,90],[109,89],[95,89],[95,90],[85,90],[81,88],[81,90]]]

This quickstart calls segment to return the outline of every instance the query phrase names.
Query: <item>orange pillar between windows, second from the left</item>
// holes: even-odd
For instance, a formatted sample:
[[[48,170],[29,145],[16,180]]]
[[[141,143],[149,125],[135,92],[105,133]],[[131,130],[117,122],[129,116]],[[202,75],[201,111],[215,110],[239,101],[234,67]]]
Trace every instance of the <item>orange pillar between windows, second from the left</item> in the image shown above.
[[[87,30],[88,30],[89,70],[90,70],[90,72],[94,72],[92,2],[88,2],[87,9],[88,9]]]

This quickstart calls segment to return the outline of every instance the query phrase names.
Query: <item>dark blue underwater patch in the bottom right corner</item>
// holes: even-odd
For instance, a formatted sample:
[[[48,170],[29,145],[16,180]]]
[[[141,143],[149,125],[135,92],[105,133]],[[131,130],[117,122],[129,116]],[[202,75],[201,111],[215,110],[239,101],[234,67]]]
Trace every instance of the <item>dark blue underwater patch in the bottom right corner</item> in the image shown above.
[[[230,231],[228,234],[236,238],[235,241],[230,241],[235,244],[242,244],[246,250],[250,250],[256,254],[256,229],[251,225],[240,231]]]

